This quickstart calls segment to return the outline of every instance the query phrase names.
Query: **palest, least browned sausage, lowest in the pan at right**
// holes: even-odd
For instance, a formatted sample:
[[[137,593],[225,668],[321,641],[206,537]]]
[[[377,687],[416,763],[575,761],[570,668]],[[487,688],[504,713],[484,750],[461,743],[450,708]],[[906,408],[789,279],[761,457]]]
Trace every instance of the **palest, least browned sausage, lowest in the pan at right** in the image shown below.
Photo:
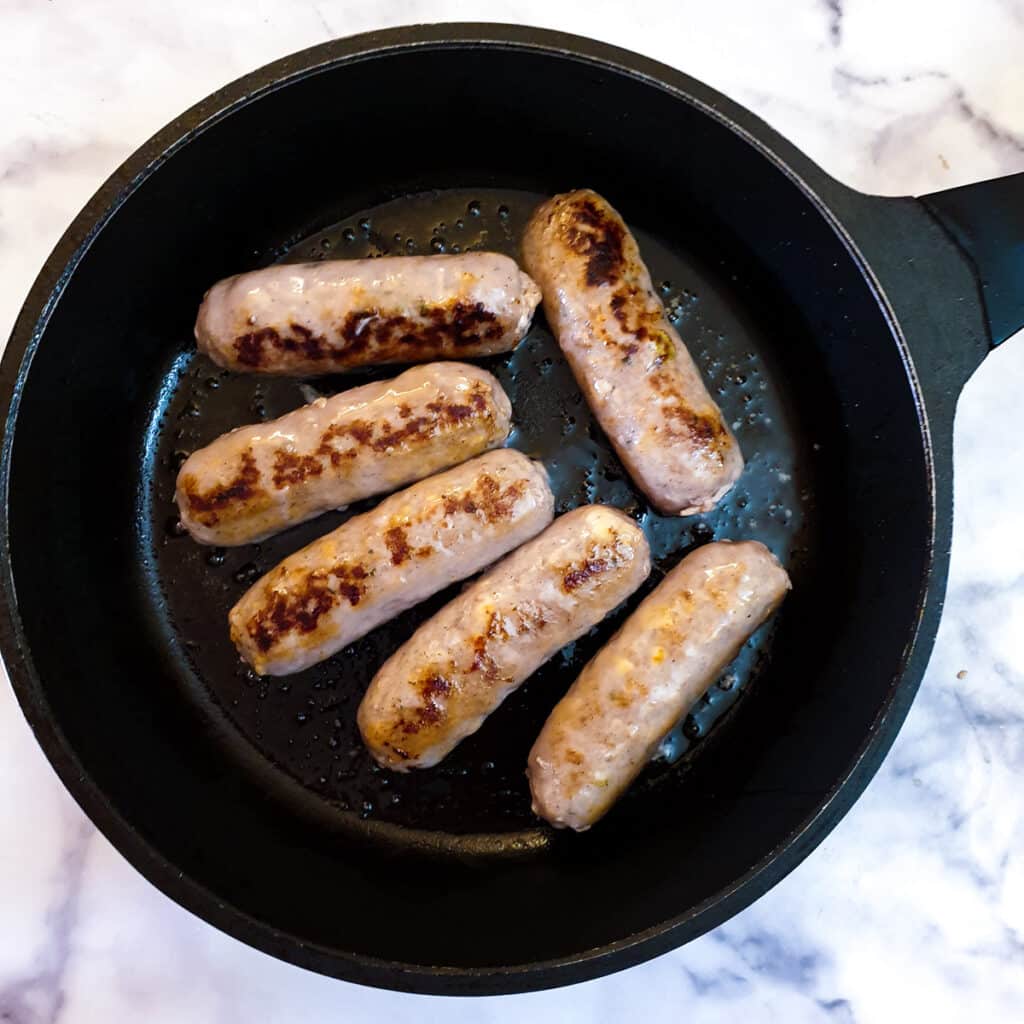
[[[555,706],[527,760],[534,812],[589,828],[790,589],[756,541],[687,555]]]

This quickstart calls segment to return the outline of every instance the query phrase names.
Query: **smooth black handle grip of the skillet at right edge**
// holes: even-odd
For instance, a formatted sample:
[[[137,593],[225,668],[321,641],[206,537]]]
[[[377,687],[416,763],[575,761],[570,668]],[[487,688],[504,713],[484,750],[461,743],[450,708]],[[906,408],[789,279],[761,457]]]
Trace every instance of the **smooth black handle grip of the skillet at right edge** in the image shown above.
[[[922,196],[974,270],[994,347],[1024,328],[1024,173]]]

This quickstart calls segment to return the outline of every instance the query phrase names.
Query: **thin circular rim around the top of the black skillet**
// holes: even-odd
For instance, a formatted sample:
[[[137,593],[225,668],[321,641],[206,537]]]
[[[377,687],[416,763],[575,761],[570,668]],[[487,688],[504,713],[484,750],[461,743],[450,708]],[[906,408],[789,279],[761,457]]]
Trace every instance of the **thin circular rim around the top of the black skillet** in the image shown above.
[[[897,344],[911,389],[927,463],[928,563],[916,595],[916,622],[885,702],[857,754],[800,827],[731,886],[688,908],[606,945],[564,957],[511,967],[445,968],[402,964],[310,943],[227,904],[182,873],[144,840],[106,800],[78,760],[45,696],[23,630],[10,550],[9,487],[20,393],[50,314],[92,241],[163,163],[207,128],[279,88],[337,67],[389,51],[490,47],[556,54],[642,80],[698,108],[739,134],[804,193],[843,242],[864,278]],[[438,23],[407,26],[333,40],[268,63],[195,104],[139,146],[97,189],[43,264],[17,316],[0,361],[0,649],[15,696],[36,739],[65,787],[108,840],[147,881],[219,930],[281,959],[361,984],[431,994],[502,994],[551,988],[596,978],[649,959],[710,931],[750,905],[790,873],[824,839],[863,792],[888,753],[927,665],[941,608],[945,558],[937,558],[935,459],[922,389],[906,339],[867,261],[829,193],[844,190],[812,161],[754,115],[667,65],[586,37],[523,26]]]

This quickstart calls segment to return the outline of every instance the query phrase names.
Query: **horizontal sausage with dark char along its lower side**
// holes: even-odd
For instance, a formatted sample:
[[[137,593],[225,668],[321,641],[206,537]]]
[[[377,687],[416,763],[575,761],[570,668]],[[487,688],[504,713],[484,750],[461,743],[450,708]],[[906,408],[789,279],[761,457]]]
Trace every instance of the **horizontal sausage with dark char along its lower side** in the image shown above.
[[[498,253],[278,264],[214,285],[196,343],[228,370],[292,377],[490,355],[515,348],[540,299]]]

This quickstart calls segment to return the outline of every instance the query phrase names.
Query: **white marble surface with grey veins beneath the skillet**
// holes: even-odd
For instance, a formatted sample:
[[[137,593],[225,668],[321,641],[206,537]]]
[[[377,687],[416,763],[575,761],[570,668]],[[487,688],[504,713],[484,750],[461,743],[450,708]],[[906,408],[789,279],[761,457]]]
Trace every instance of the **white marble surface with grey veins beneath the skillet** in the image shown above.
[[[578,31],[677,65],[865,190],[1024,170],[1024,0],[2,0],[0,332],[93,189],[188,104],[333,36],[444,19]],[[3,685],[0,1021],[1024,1020],[1021,381],[1024,336],[959,403],[948,601],[895,748],[820,849],[716,932],[515,997],[307,974],[142,881],[61,790]]]

